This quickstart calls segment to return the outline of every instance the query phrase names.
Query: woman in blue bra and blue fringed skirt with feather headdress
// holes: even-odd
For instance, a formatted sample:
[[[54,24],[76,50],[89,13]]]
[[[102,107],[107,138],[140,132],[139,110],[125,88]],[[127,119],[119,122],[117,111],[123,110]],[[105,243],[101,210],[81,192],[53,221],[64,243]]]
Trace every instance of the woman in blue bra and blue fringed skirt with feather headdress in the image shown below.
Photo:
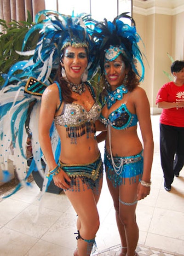
[[[130,18],[132,25],[124,23],[122,17]],[[143,58],[138,47],[140,37],[127,13],[113,22],[104,20],[95,24],[92,37],[98,48],[104,85],[100,114],[101,122],[107,127],[104,163],[121,238],[120,256],[134,256],[138,255],[135,211],[138,200],[150,193],[153,160],[150,105],[144,89],[138,86],[144,78]],[[138,138],[137,122],[143,145]],[[98,141],[102,137],[100,134]]]

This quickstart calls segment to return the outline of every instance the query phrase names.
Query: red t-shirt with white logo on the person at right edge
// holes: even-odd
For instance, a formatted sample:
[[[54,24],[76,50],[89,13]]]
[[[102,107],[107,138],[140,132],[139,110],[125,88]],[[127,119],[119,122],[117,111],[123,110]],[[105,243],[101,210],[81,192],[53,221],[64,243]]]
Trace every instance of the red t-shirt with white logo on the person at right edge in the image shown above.
[[[164,84],[158,91],[156,104],[162,101],[184,101],[184,85],[176,86],[173,81]],[[160,122],[166,125],[184,127],[184,108],[178,108],[178,110],[176,107],[162,109]]]

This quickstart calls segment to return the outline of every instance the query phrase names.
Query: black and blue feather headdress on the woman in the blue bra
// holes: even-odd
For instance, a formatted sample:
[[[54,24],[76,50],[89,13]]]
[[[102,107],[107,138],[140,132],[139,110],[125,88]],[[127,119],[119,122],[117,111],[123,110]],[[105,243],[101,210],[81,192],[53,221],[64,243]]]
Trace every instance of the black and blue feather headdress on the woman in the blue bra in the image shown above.
[[[132,25],[124,23],[121,18],[128,18]],[[140,77],[140,81],[144,79],[143,55],[138,47],[141,38],[136,31],[135,21],[127,15],[127,12],[115,17],[113,22],[104,19],[104,22],[94,24],[92,38],[96,43],[96,51],[99,56],[98,63],[102,73],[104,72],[105,56],[110,56],[110,50],[116,51],[118,49],[119,53],[130,62],[132,70]],[[117,58],[118,54],[114,54],[114,56]],[[139,75],[137,68],[138,62],[142,69],[141,75]]]

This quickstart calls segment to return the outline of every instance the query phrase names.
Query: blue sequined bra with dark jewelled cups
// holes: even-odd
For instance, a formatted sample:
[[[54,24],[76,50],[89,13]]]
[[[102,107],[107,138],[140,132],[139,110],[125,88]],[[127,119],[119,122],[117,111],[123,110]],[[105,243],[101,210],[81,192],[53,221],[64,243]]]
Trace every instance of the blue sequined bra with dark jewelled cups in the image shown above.
[[[108,119],[100,114],[100,121],[106,126],[109,124],[115,129],[124,130],[137,125],[138,117],[127,109],[126,103],[123,103],[119,108],[110,113]]]

